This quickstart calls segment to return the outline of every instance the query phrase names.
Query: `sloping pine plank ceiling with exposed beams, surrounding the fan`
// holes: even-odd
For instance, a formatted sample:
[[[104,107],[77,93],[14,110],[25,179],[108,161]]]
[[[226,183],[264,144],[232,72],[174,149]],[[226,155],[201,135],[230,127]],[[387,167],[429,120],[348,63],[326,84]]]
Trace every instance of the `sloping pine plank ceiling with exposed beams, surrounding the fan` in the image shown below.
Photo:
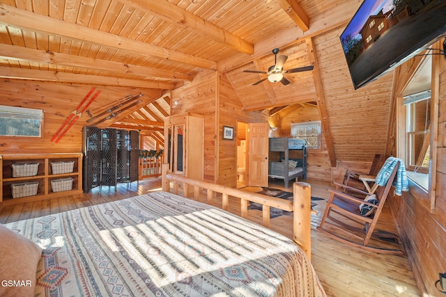
[[[137,125],[162,138],[169,91],[203,70],[226,74],[247,111],[320,105],[312,38],[344,26],[360,2],[0,0],[0,77],[141,90],[142,104],[102,125]],[[252,86],[261,75],[241,70],[267,70],[276,47],[289,56],[284,68],[315,65],[316,71],[288,74],[288,86]]]

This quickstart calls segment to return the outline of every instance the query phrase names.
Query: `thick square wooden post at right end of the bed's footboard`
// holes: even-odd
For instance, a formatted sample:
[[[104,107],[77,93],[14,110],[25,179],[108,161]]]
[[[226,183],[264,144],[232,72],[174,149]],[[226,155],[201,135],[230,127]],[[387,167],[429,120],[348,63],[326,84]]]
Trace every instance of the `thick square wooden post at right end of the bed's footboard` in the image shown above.
[[[306,182],[293,184],[293,240],[312,260],[312,186]]]

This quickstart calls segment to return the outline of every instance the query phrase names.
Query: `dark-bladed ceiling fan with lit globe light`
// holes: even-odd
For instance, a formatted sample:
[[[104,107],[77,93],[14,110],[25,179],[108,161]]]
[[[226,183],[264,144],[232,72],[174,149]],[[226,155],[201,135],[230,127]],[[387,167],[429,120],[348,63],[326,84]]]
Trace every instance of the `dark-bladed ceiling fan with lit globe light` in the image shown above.
[[[289,70],[284,70],[284,64],[288,56],[280,55],[279,57],[277,57],[278,52],[279,49],[272,50],[272,54],[274,54],[274,65],[268,68],[268,72],[258,71],[258,70],[243,70],[243,72],[268,74],[268,77],[265,77],[264,79],[261,79],[256,83],[253,83],[252,86],[256,86],[262,81],[266,81],[266,79],[268,79],[268,81],[271,81],[272,83],[277,83],[278,81],[280,81],[282,84],[286,86],[290,83],[290,81],[284,77],[285,73],[303,72],[314,69],[313,65],[309,65],[305,67],[298,67]]]

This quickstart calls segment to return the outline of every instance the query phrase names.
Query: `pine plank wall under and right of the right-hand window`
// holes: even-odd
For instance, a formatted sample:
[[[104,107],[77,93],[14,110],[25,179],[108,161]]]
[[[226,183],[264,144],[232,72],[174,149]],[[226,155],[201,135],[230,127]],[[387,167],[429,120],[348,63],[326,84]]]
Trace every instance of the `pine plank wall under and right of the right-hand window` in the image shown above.
[[[443,59],[439,63],[439,74],[436,74],[439,77],[438,110],[442,111],[445,104],[446,63]],[[399,100],[398,104],[402,104],[402,99]],[[398,122],[401,122],[401,118]],[[438,273],[444,273],[446,269],[446,146],[442,141],[446,117],[441,112],[437,122],[436,155],[432,156],[433,162],[436,162],[436,171],[431,172],[436,179],[435,211],[431,212],[430,195],[413,183],[410,184],[410,192],[403,192],[401,197],[390,197],[388,200],[417,286],[422,295],[430,296],[438,295],[435,282],[438,280]],[[400,134],[398,137],[403,136],[403,131]],[[398,155],[400,154],[401,152]]]

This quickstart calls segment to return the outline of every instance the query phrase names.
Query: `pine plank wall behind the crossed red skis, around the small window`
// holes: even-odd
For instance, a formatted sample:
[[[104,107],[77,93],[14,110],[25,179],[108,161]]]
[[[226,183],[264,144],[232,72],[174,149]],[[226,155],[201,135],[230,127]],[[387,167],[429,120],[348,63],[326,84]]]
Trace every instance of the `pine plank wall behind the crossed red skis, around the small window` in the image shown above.
[[[61,127],[70,113],[82,101],[91,85],[75,85],[68,83],[36,82],[18,79],[2,79],[0,81],[0,104],[8,106],[21,106],[44,111],[44,129],[41,138],[33,138],[33,145],[29,145],[29,138],[0,137],[3,143],[2,152],[15,154],[31,153],[62,153],[82,151],[82,127],[89,118],[87,113],[82,114],[59,143],[49,141],[53,134]],[[129,88],[96,86],[101,90],[100,95],[89,106],[89,110],[98,110],[101,106],[117,101],[131,93],[146,94],[146,99],[153,97],[153,90],[134,90]],[[155,90],[155,93],[158,91]]]

